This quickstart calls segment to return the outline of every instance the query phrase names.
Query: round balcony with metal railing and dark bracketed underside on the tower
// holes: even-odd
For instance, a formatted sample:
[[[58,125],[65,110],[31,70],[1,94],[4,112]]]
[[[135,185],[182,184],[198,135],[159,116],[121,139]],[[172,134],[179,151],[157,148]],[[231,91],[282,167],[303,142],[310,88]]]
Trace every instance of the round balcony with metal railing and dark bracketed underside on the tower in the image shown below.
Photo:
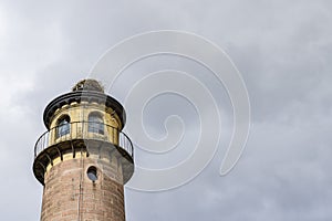
[[[103,151],[101,151],[103,147]],[[126,176],[126,182],[133,173],[134,149],[131,139],[117,128],[96,122],[72,122],[59,125],[45,131],[34,146],[33,171],[37,179],[43,183],[48,165],[64,154],[73,154],[84,148],[87,155],[98,152],[117,152],[121,156]],[[117,150],[117,151],[114,151]],[[124,171],[125,172],[125,171]]]

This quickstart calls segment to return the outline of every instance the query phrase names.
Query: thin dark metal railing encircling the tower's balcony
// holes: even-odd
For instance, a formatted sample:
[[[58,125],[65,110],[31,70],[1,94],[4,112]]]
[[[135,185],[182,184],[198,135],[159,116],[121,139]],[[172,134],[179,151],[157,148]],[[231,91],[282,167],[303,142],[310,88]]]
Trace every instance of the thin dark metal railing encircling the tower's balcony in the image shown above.
[[[73,139],[108,141],[134,157],[132,140],[117,128],[97,122],[72,122],[55,126],[42,134],[34,145],[34,158],[50,146]]]

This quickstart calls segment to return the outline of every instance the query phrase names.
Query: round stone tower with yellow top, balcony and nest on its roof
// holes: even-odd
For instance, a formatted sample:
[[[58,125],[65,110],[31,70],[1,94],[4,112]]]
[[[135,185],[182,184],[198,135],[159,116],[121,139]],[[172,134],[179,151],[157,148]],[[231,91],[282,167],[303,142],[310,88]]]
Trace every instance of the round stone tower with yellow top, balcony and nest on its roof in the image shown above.
[[[43,185],[42,221],[124,221],[124,185],[134,172],[133,145],[122,133],[123,106],[95,80],[79,82],[43,114],[34,147]]]

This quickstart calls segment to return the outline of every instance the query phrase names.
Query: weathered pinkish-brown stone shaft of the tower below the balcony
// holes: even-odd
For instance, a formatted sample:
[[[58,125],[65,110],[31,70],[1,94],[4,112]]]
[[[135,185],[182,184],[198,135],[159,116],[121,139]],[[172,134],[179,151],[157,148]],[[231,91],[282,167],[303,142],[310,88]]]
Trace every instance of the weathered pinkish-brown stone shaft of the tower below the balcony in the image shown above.
[[[121,168],[115,165],[96,161],[83,154],[51,167],[45,175],[41,220],[124,221],[123,183],[108,176],[118,176]],[[86,175],[91,166],[97,168],[98,178],[95,182]]]

